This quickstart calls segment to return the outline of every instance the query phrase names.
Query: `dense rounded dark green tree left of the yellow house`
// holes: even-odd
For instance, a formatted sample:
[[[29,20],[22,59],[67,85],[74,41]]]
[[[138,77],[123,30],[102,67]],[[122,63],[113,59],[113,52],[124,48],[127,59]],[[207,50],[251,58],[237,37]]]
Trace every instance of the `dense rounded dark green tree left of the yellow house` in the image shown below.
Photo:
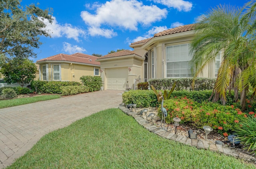
[[[6,83],[24,86],[36,77],[36,65],[29,59],[13,58],[2,64],[0,73],[4,75]]]

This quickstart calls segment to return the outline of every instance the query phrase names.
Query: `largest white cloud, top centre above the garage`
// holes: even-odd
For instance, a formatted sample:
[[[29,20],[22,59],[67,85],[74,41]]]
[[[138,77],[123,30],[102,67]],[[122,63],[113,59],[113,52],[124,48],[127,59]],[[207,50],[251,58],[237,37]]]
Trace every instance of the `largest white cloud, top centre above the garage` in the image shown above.
[[[102,29],[102,26],[110,26],[136,31],[138,24],[150,25],[166,18],[166,15],[166,9],[160,9],[155,5],[146,6],[141,1],[111,0],[97,7],[95,14],[82,11],[80,16],[90,28],[98,28],[99,30]],[[107,30],[103,29],[103,32]],[[109,29],[108,33],[113,33],[113,35],[108,36],[116,35],[112,29]],[[100,35],[100,33],[94,32],[92,35]]]

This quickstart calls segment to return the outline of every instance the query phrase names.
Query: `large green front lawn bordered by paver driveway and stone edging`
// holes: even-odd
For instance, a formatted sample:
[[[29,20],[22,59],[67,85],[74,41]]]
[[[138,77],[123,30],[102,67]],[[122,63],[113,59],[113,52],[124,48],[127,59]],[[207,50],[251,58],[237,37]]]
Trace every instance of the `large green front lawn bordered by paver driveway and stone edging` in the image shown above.
[[[255,169],[234,157],[167,140],[119,109],[42,137],[7,169]]]

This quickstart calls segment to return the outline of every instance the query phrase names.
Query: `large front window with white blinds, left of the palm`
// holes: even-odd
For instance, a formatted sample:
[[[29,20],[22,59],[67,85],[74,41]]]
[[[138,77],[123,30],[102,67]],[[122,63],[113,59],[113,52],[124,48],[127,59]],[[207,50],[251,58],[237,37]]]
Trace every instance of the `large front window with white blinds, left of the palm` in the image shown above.
[[[166,77],[191,77],[189,61],[190,44],[172,45],[166,47]]]

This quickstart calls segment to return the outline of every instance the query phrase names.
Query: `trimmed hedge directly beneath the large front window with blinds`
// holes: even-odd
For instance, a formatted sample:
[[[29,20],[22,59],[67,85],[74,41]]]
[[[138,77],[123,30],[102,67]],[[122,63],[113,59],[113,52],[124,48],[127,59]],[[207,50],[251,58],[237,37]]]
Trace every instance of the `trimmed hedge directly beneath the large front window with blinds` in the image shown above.
[[[176,82],[175,90],[192,90],[193,78],[163,78],[149,79],[149,86],[153,85],[156,90],[171,90]],[[215,78],[196,78],[194,90],[212,90],[214,88]]]

